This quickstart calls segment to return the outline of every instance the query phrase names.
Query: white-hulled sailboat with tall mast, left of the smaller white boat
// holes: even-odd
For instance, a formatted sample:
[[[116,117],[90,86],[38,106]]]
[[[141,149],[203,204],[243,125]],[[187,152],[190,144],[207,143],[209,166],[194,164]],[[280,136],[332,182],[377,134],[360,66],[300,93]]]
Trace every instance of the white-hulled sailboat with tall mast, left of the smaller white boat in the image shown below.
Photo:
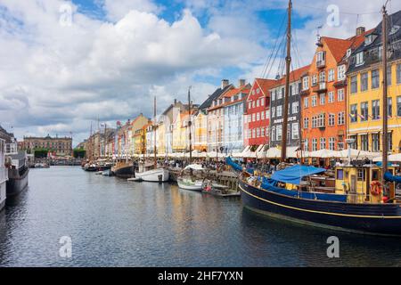
[[[139,164],[139,172],[135,172],[135,178],[145,182],[168,182],[169,172],[167,168],[158,167],[157,148],[156,148],[156,97],[154,98],[154,118],[153,118],[153,152],[154,161],[152,164],[146,163],[143,157],[143,163]],[[144,156],[143,150],[143,156]]]

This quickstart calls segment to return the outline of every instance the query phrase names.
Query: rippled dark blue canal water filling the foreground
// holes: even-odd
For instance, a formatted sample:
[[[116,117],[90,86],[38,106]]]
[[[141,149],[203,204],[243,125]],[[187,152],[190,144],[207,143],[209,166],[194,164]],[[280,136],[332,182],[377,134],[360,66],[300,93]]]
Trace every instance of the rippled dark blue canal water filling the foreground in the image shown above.
[[[59,254],[63,236],[72,255]],[[327,239],[340,257],[327,256]],[[31,169],[0,213],[0,266],[401,266],[401,240],[261,216],[241,199],[127,183],[80,167]]]

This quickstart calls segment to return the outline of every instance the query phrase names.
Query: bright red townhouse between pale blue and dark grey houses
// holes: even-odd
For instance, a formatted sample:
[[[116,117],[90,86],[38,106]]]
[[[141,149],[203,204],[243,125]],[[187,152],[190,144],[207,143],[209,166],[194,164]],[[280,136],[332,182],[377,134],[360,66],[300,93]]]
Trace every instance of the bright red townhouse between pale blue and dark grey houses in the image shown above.
[[[256,150],[259,145],[267,145],[269,143],[269,90],[274,84],[276,84],[276,80],[256,78],[250,88],[243,124],[244,148],[251,146]]]

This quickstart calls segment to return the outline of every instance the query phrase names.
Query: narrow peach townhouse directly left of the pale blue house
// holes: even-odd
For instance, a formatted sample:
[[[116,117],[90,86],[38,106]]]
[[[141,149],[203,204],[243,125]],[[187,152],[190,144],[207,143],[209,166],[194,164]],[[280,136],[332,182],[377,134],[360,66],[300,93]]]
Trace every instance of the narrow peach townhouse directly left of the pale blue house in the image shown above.
[[[208,109],[208,151],[223,152],[224,146],[224,124],[225,108],[224,95],[234,86],[227,79],[222,80],[221,92],[214,97]]]

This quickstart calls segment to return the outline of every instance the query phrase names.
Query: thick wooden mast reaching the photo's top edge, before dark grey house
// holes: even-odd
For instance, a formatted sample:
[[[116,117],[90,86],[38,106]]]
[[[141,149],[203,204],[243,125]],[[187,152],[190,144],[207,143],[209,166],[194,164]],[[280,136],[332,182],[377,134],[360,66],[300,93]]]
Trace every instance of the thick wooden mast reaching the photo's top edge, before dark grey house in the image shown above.
[[[288,27],[287,27],[287,56],[285,58],[285,93],[284,93],[284,117],[282,120],[282,162],[287,158],[287,129],[288,129],[288,97],[290,94],[290,66],[291,66],[291,0],[288,2]]]

